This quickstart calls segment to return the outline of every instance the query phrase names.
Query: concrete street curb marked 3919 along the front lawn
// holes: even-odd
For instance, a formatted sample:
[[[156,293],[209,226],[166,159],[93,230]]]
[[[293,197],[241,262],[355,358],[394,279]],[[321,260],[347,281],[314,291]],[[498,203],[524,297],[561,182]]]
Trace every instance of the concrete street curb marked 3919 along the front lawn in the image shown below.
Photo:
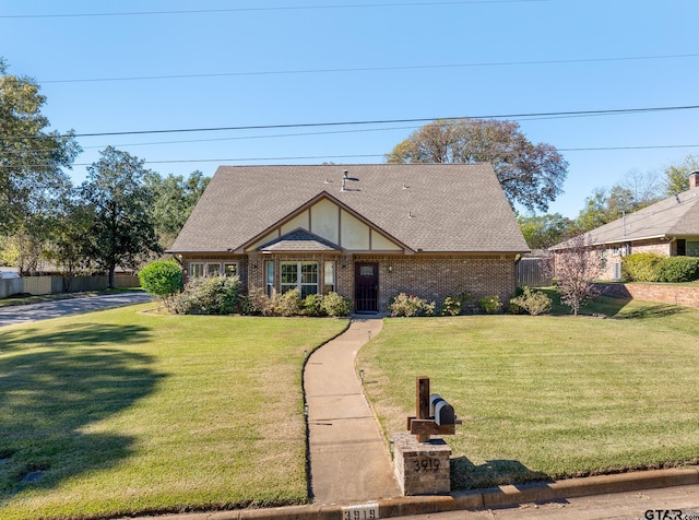
[[[699,468],[686,470],[651,470],[615,475],[567,478],[520,486],[507,485],[487,489],[452,493],[443,496],[416,496],[367,500],[360,506],[378,506],[378,518],[406,517],[436,512],[498,509],[521,504],[546,503],[566,498],[607,495],[659,487],[699,485]],[[140,517],[135,520],[343,520],[344,508],[358,504],[289,506],[270,509],[239,509],[235,511]],[[358,517],[364,518],[364,517]],[[369,517],[367,517],[369,518]]]

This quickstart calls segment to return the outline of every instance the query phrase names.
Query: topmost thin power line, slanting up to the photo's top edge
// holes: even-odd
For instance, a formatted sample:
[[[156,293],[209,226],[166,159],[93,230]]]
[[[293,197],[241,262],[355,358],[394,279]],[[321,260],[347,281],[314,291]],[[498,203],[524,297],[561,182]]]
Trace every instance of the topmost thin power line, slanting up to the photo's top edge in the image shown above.
[[[153,16],[162,14],[216,14],[245,13],[269,11],[320,11],[331,9],[372,9],[372,8],[403,8],[403,7],[437,7],[437,5],[470,5],[499,3],[541,3],[549,0],[464,0],[438,2],[395,2],[395,3],[347,3],[340,5],[295,5],[272,8],[229,8],[229,9],[193,9],[182,11],[125,11],[111,13],[54,13],[54,14],[2,14],[0,19],[67,19],[67,17],[107,17],[107,16]]]

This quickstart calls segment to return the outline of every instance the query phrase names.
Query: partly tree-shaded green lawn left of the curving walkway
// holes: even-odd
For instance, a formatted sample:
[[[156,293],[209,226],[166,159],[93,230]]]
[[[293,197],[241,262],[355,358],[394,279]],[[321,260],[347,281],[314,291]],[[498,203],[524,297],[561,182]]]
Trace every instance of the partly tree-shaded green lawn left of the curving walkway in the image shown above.
[[[2,329],[1,518],[308,500],[301,366],[346,321],[149,305]]]

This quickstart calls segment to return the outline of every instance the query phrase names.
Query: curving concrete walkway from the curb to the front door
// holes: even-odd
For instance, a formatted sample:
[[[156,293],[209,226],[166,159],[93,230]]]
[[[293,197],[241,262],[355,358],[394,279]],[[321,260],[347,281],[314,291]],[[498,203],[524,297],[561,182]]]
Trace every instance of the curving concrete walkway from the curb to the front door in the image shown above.
[[[355,370],[362,345],[383,326],[355,318],[306,365],[311,489],[315,504],[362,503],[401,495],[379,425]]]

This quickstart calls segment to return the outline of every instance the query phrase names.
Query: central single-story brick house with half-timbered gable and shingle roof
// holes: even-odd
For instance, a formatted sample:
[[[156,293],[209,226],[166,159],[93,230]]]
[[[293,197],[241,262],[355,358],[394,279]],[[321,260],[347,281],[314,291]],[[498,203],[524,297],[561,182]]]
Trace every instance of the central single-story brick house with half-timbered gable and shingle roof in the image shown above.
[[[169,252],[269,296],[334,291],[358,312],[516,289],[528,251],[488,164],[221,166]]]

